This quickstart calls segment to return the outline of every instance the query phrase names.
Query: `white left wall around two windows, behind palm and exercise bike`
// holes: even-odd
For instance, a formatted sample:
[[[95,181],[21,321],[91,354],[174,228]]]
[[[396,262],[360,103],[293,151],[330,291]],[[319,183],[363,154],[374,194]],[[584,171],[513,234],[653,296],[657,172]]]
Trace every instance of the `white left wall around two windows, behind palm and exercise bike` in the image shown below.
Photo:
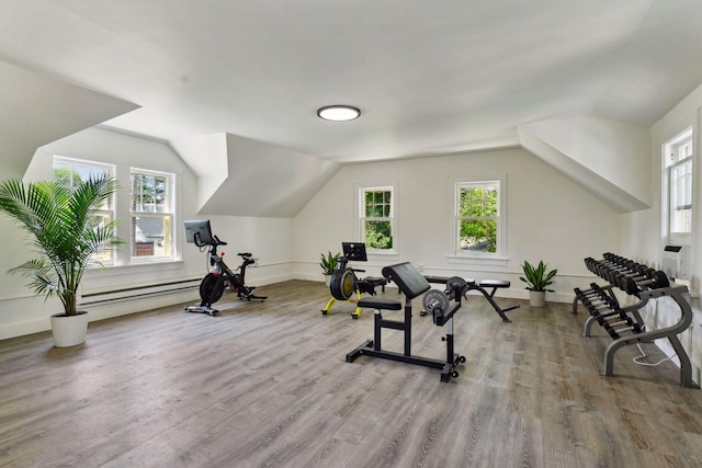
[[[91,128],[39,148],[25,174],[25,180],[53,178],[54,155],[117,164],[117,173],[126,174],[127,184],[118,194],[118,203],[128,203],[129,167],[167,171],[177,174],[177,215],[179,220],[212,218],[213,230],[229,244],[226,251],[230,266],[239,264],[237,252],[250,251],[259,258],[258,267],[247,272],[247,284],[264,285],[292,277],[292,219],[210,217],[195,213],[195,178],[179,156],[166,144],[136,138],[105,129]],[[125,186],[126,185],[126,186]],[[58,300],[32,296],[24,287],[26,279],[7,273],[9,267],[31,258],[24,237],[5,215],[0,215],[0,340],[49,329],[49,316],[61,311]],[[123,220],[120,237],[128,239],[128,220]],[[183,239],[182,228],[176,229],[177,259],[169,263],[120,265],[103,271],[90,271],[81,293],[113,290],[146,284],[199,278],[206,273],[204,254]],[[24,236],[23,233],[21,233]],[[91,306],[91,321],[148,310],[184,301],[199,301],[196,289],[182,294]]]

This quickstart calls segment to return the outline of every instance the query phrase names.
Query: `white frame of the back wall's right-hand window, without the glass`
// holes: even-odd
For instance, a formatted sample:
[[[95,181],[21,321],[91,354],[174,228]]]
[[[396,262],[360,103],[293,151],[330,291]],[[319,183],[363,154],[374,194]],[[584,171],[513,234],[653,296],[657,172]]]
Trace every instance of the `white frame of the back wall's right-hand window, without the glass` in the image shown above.
[[[495,252],[465,251],[461,249],[461,217],[460,193],[465,186],[486,186],[492,185],[497,190],[497,216],[490,217],[497,221],[497,239]],[[507,178],[498,178],[491,180],[469,180],[461,179],[454,181],[453,189],[453,226],[452,242],[453,255],[455,259],[466,259],[471,261],[507,261]]]

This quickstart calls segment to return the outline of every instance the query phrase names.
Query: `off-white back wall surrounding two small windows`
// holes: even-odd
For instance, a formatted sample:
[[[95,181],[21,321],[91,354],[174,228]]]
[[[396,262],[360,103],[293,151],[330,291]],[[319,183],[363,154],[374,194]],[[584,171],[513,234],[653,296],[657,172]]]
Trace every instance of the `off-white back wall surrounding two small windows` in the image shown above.
[[[456,260],[453,249],[453,184],[506,178],[507,256],[502,264]],[[370,255],[367,274],[410,261],[424,274],[512,282],[503,296],[526,298],[519,281],[524,260],[558,269],[548,300],[571,301],[573,287],[592,276],[586,256],[619,250],[619,216],[599,198],[523,149],[343,167],[294,220],[295,275],[321,279],[319,253],[359,240],[358,189],[395,185],[398,255]]]

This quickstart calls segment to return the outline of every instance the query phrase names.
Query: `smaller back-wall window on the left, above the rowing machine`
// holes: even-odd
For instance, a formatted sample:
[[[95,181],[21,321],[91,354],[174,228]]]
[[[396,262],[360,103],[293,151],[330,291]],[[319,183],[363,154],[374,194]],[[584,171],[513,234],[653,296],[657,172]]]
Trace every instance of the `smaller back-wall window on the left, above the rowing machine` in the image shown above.
[[[361,240],[369,251],[394,251],[394,204],[392,186],[360,190]]]

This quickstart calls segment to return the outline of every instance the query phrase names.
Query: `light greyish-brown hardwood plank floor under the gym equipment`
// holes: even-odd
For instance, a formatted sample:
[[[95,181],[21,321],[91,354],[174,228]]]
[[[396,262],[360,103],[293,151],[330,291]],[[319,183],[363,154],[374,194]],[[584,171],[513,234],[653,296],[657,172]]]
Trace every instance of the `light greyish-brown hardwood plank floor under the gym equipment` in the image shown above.
[[[321,283],[260,290],[263,304],[225,296],[217,317],[179,306],[91,323],[73,349],[48,333],[0,342],[0,465],[702,466],[702,391],[680,387],[672,364],[632,363],[635,347],[603,377],[610,339],[582,338],[569,305],[522,301],[503,323],[471,296],[455,318],[467,362],[441,383],[431,368],[346,363],[373,312],[351,320],[354,305],[337,303],[321,316]],[[442,358],[444,329],[419,309],[412,352]],[[385,349],[400,346],[384,332]]]

